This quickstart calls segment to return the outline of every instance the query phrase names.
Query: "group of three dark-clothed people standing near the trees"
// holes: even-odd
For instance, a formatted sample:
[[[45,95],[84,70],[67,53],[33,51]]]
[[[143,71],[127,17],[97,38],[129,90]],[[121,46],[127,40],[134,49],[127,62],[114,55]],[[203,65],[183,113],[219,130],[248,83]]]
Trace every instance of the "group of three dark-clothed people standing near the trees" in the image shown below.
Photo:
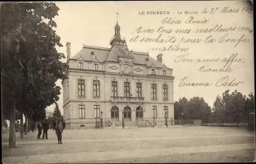
[[[66,125],[64,121],[61,122],[60,120],[55,120],[55,122],[53,122],[53,130],[55,130],[56,132],[58,144],[62,144],[62,132],[63,132],[63,129],[65,129],[65,126]],[[42,124],[38,122],[37,129],[38,129],[37,140],[41,139],[40,136],[41,136],[42,130],[43,130],[42,140],[45,139],[45,136],[46,136],[46,140],[48,140],[48,129],[49,129],[48,121],[44,120]]]

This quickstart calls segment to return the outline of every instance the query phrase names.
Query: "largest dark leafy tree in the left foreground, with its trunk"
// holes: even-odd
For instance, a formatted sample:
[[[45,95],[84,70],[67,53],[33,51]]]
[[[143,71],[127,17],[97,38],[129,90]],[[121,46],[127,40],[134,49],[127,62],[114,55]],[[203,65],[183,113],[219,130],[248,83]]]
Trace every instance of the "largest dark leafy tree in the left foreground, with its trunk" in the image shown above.
[[[15,111],[38,117],[59,98],[57,79],[66,78],[68,66],[55,46],[60,37],[52,20],[59,8],[54,3],[5,3],[1,5],[2,102],[10,118],[9,146],[15,147]],[[20,118],[23,124],[23,117]],[[23,131],[20,130],[22,137]]]

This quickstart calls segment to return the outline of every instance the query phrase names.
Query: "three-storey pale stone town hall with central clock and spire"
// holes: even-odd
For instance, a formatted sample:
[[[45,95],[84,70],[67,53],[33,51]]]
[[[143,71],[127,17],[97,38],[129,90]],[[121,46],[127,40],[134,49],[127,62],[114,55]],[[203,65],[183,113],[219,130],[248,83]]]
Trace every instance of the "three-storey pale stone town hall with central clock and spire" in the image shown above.
[[[67,128],[174,124],[174,76],[163,54],[157,60],[130,50],[118,22],[110,48],[83,45],[71,56],[67,43],[68,78],[63,81],[63,118]],[[139,123],[138,123],[139,120]]]

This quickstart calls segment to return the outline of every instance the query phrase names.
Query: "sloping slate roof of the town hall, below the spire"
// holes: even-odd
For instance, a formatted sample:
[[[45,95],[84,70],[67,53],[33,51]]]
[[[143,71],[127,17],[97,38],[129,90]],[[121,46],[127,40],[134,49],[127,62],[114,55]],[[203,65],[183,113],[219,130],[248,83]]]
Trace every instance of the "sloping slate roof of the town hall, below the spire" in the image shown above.
[[[98,62],[118,62],[118,56],[120,54],[119,48],[127,48],[127,46],[113,46],[112,48],[96,47],[83,45],[83,48],[71,59],[81,61],[98,61]],[[94,56],[91,54],[94,52]],[[133,53],[134,64],[145,65],[147,67],[156,67],[170,69],[161,62],[150,57],[148,53],[130,51]],[[96,58],[96,59],[94,59]]]

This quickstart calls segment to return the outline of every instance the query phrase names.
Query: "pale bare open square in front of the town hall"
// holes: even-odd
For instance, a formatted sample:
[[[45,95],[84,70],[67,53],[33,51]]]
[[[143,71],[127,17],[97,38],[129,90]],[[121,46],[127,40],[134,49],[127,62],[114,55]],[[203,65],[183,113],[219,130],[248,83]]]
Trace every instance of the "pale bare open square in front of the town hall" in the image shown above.
[[[8,148],[2,132],[3,163],[123,163],[123,162],[248,162],[255,161],[255,135],[244,128],[169,126],[157,128],[70,129],[57,144],[36,140],[37,130]]]

